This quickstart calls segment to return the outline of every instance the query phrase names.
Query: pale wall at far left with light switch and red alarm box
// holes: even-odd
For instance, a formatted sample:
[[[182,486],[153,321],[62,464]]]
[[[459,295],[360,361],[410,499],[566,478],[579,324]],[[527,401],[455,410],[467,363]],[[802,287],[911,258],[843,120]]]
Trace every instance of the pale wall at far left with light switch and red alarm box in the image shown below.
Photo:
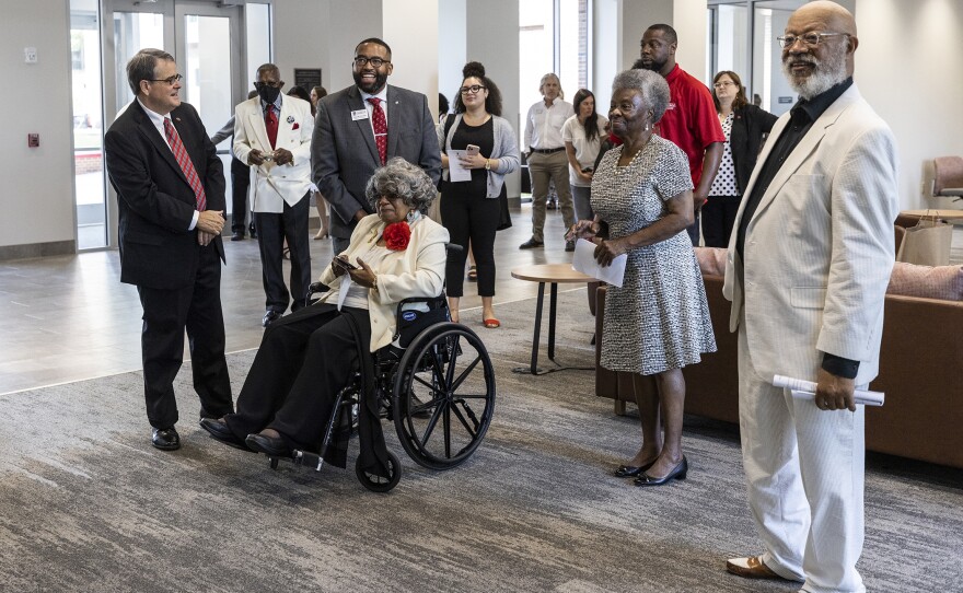
[[[0,247],[74,240],[69,31],[67,0],[4,5],[0,19],[0,72],[18,95],[0,148]],[[24,47],[37,63],[24,63]],[[27,133],[40,135],[39,148],[27,148]]]

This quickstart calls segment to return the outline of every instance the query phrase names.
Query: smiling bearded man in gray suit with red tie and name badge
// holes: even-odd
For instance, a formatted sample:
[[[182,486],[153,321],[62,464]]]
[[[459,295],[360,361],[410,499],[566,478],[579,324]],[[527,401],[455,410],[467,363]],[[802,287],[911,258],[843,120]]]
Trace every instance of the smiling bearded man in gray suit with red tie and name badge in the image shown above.
[[[420,165],[434,183],[441,151],[428,97],[387,84],[391,47],[364,39],[355,48],[355,84],[317,103],[311,165],[314,183],[330,204],[334,253],[348,248],[359,220],[374,212],[364,185],[393,156]]]

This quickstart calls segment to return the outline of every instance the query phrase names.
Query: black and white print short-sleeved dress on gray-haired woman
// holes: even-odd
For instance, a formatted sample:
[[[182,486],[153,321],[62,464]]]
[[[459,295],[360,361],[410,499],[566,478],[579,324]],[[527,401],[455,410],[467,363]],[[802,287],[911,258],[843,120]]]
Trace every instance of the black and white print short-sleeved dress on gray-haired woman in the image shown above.
[[[610,150],[592,178],[592,210],[618,239],[668,213],[665,200],[693,188],[685,153],[658,136],[631,163]],[[622,288],[608,287],[601,364],[650,375],[716,351],[706,290],[688,234],[628,252]]]

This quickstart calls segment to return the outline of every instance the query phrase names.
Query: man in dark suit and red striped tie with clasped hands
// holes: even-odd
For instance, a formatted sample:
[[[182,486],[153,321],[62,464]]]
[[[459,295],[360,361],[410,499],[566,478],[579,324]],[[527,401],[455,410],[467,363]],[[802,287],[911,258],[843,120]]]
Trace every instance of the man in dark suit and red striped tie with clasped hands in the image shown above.
[[[137,286],[143,307],[151,442],[173,451],[181,446],[173,382],[185,329],[200,416],[233,411],[220,296],[224,174],[197,112],[181,103],[173,56],[142,49],[127,63],[127,79],[137,98],[104,137],[119,210],[120,281]]]

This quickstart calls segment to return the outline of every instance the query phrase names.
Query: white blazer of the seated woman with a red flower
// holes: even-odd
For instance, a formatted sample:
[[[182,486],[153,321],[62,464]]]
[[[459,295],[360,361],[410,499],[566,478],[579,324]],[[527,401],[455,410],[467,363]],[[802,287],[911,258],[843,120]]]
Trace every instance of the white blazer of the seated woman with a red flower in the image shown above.
[[[351,233],[351,244],[343,254],[348,261],[357,265],[359,256],[364,259],[364,254],[381,236],[383,226],[378,214],[361,219]],[[395,310],[402,300],[441,294],[444,287],[444,266],[448,261],[444,246],[448,242],[448,229],[422,216],[411,225],[408,248],[393,252],[374,270],[378,272],[378,290],[368,291],[372,352],[391,344],[395,334]],[[330,299],[337,301],[343,278],[345,276],[335,278],[330,266],[324,268],[320,280],[330,287],[330,290],[320,302]]]

